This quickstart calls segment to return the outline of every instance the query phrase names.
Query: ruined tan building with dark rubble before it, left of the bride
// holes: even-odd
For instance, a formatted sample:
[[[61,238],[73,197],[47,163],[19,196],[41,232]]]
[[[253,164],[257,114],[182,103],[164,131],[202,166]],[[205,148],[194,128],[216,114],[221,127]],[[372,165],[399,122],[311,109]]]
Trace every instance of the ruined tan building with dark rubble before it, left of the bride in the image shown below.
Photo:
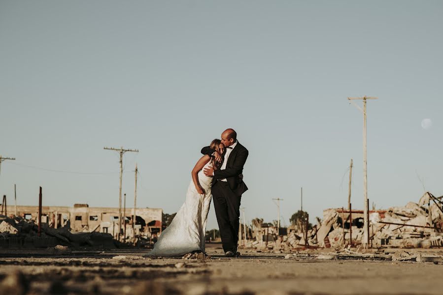
[[[38,227],[38,206],[6,206],[0,215],[0,235],[3,247],[34,246],[44,244],[61,244],[76,246],[93,245],[87,242],[91,237],[106,237],[109,246],[118,235],[118,208],[89,207],[87,204],[75,204],[73,207],[41,207],[41,230]],[[136,208],[136,222],[133,223],[133,208],[126,208],[122,219],[123,242],[136,243],[140,240],[151,240],[162,231],[162,214],[160,208]],[[51,237],[38,239],[41,235]],[[82,238],[80,238],[82,237]],[[6,241],[8,238],[8,241]],[[55,239],[54,239],[55,238]]]

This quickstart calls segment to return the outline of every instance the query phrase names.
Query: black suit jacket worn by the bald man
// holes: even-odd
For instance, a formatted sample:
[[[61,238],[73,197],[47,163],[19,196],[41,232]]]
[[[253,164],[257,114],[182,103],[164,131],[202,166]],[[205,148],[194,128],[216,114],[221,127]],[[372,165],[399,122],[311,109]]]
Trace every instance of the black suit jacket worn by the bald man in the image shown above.
[[[202,153],[211,156],[215,150],[209,147],[202,148]],[[219,179],[226,178],[231,187],[232,191],[238,196],[241,196],[248,187],[239,177],[243,173],[243,166],[246,163],[249,151],[237,142],[237,145],[231,153],[229,154],[228,162],[226,163],[226,169],[214,170],[214,179],[217,181]]]

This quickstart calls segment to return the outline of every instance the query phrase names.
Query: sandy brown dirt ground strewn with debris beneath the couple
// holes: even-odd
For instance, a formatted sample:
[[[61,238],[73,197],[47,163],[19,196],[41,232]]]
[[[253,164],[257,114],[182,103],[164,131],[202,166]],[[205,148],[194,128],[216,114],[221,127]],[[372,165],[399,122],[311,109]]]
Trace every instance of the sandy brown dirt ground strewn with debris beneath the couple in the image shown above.
[[[147,250],[0,251],[0,295],[326,295],[442,294],[442,262],[313,258],[318,251],[256,253],[225,258],[208,244],[210,260],[149,259]],[[436,251],[441,255],[441,251]],[[120,257],[115,257],[120,256]],[[285,259],[286,256],[286,259]]]

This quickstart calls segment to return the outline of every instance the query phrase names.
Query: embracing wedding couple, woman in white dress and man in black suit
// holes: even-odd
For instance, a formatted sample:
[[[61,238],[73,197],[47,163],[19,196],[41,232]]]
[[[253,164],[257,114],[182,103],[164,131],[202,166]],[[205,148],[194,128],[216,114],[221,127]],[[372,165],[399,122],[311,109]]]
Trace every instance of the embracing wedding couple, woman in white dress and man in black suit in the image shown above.
[[[248,150],[237,141],[234,129],[226,129],[221,140],[214,139],[209,147],[202,149],[202,154],[204,156],[191,172],[192,180],[185,203],[148,255],[205,253],[204,237],[212,197],[225,256],[239,255],[240,200],[248,189],[243,182],[242,171]]]

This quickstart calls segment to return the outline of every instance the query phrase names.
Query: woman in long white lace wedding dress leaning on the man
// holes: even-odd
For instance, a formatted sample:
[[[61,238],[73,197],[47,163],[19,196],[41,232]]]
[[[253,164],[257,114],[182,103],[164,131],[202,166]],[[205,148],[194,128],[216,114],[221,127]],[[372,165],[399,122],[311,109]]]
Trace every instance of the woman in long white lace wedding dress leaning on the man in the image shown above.
[[[220,155],[225,146],[219,139],[214,139],[210,147]],[[209,155],[204,155],[191,172],[192,180],[186,193],[186,201],[178,210],[170,226],[160,235],[154,249],[148,255],[178,256],[193,251],[204,252],[207,213],[211,204],[212,177],[207,177],[203,169],[212,166],[220,169],[222,162],[216,162]]]

